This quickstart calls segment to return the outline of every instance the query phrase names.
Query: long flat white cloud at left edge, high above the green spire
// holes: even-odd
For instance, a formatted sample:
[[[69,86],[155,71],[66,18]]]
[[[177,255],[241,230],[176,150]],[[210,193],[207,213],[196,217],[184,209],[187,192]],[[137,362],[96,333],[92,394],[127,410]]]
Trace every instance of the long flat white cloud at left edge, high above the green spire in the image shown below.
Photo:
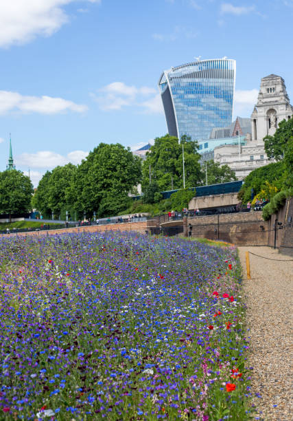
[[[75,102],[63,98],[51,96],[23,96],[18,92],[0,91],[0,114],[9,111],[21,111],[22,113],[56,114],[63,111],[86,111],[86,105],[78,105]]]

